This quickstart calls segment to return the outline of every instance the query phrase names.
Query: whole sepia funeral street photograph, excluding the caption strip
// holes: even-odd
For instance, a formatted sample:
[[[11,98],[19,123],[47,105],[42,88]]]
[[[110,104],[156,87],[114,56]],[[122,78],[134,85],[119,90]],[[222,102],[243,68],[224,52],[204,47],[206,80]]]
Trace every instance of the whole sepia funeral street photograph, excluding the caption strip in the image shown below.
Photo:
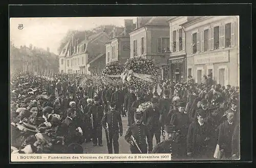
[[[238,16],[10,23],[11,154],[240,159]]]

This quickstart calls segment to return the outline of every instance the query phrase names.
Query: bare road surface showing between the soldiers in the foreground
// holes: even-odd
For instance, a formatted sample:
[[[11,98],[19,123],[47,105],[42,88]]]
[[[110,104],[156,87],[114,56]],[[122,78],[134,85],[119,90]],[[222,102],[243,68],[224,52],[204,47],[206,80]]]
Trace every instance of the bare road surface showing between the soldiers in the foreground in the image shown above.
[[[123,124],[123,135],[119,137],[118,142],[119,142],[119,153],[120,154],[130,154],[130,145],[124,140],[124,135],[126,134],[126,131],[128,129],[128,118],[127,116],[122,117],[122,124]],[[161,135],[161,141],[163,137]],[[93,142],[88,142],[88,143],[83,143],[83,153],[86,154],[108,154],[108,147],[106,146],[106,135],[105,135],[105,130],[102,128],[102,147],[100,146],[95,146],[93,147]],[[156,146],[156,139],[155,137],[153,138],[153,148]],[[114,150],[113,150],[114,152]]]

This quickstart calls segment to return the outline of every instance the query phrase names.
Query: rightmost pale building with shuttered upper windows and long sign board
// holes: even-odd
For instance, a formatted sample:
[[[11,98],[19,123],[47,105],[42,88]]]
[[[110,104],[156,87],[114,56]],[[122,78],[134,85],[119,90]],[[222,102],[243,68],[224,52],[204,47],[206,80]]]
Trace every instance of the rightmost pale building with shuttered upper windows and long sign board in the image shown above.
[[[222,86],[239,86],[239,17],[204,16],[182,24],[185,30],[187,75],[201,83],[203,76]]]

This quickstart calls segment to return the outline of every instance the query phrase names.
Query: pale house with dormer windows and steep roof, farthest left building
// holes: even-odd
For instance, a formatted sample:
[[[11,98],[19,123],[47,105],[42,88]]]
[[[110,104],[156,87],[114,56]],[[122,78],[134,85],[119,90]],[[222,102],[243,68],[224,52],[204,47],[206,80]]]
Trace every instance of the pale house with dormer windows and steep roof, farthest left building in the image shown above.
[[[85,39],[80,43],[72,38],[59,55],[59,73],[89,74],[87,65],[98,55],[105,53],[105,42],[109,39],[104,31],[89,37],[85,34]]]

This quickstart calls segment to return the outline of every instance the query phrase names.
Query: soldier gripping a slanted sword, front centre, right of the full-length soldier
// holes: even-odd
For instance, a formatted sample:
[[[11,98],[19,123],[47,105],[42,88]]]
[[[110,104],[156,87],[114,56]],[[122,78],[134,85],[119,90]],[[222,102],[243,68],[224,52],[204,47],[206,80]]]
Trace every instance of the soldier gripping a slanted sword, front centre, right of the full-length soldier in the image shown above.
[[[137,112],[134,114],[135,124],[128,128],[124,139],[131,144],[130,150],[132,154],[151,153],[153,143],[150,131],[148,131],[147,127],[142,124],[143,115],[141,110],[137,109],[136,111]]]

